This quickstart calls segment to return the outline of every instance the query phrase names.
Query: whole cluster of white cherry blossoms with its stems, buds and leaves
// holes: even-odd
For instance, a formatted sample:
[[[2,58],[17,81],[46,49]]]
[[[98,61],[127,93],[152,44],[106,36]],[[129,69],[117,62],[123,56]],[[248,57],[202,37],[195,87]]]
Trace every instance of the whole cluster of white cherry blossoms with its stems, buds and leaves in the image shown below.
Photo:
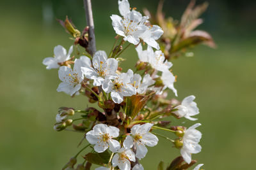
[[[166,90],[172,90],[175,96],[177,90],[173,85],[176,76],[170,70],[173,64],[159,50],[157,42],[163,30],[158,25],[150,25],[149,17],[141,15],[136,8],[130,8],[127,0],[119,0],[118,6],[122,17],[111,15],[111,20],[117,34],[116,42],[121,40],[119,45],[113,45],[109,55],[101,50],[89,53],[84,43],[90,43],[88,34],[81,35],[67,19],[64,26],[76,38],[74,46],[67,53],[63,46],[58,45],[54,48],[54,57],[44,59],[43,64],[47,69],[59,69],[62,82],[57,88],[58,92],[70,96],[83,94],[90,103],[99,106],[85,110],[60,108],[54,129],[62,131],[72,126],[73,131],[84,132],[89,143],[86,147],[93,147],[93,152],[84,156],[86,164],[79,164],[76,169],[90,169],[92,164],[97,164],[101,166],[97,170],[141,170],[143,166],[139,161],[147,155],[147,146],[157,145],[157,136],[168,139],[180,149],[181,157],[177,159],[182,160],[173,160],[170,164],[172,167],[168,169],[188,169],[196,163],[191,159],[191,154],[199,153],[202,149],[198,144],[202,133],[196,130],[201,124],[189,128],[170,126],[170,121],[163,118],[197,120],[193,118],[199,113],[195,96],[185,97],[182,102],[167,99]],[[125,43],[129,44],[123,49]],[[143,50],[145,43],[147,49]],[[134,71],[128,69],[123,73],[120,64],[124,59],[119,56],[131,44],[135,45],[138,61]],[[86,48],[88,53],[75,59],[70,55],[73,48],[78,48],[77,45]],[[76,113],[82,114],[81,118],[72,118]],[[77,120],[82,122],[75,124]],[[172,132],[176,137],[170,139],[158,134],[158,131]],[[70,159],[63,169],[75,169],[76,157]],[[195,169],[202,165],[198,164]]]

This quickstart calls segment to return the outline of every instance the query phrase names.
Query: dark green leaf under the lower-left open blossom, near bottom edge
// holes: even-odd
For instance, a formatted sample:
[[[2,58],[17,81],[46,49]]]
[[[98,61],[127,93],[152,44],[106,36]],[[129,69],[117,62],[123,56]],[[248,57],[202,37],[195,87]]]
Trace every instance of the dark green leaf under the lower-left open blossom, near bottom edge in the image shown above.
[[[110,153],[106,150],[105,152],[102,153],[87,153],[84,156],[84,159],[92,164],[105,166],[106,164],[108,164],[110,156]]]

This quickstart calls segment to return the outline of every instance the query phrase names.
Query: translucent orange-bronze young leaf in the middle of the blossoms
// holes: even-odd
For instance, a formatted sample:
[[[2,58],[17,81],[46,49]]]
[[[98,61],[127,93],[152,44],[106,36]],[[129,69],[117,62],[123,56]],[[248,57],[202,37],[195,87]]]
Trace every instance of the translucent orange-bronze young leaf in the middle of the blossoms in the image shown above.
[[[127,115],[131,118],[136,117],[140,110],[145,106],[147,101],[152,97],[155,92],[144,95],[134,95],[127,99]]]

